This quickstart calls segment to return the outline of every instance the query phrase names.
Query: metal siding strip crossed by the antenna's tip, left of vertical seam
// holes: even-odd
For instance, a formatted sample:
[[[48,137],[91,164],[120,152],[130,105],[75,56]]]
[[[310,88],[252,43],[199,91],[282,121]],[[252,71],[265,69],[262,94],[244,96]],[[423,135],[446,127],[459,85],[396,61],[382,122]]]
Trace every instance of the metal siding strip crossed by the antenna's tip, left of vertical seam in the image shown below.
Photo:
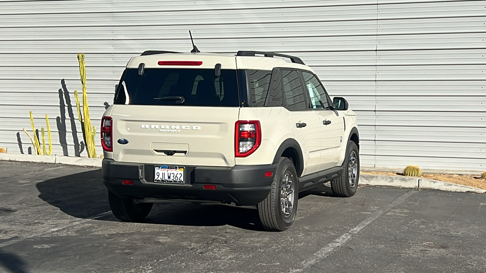
[[[195,39],[308,37],[315,36],[316,32],[326,36],[375,35],[377,32],[376,20],[219,24],[218,28],[196,24],[190,28]],[[4,27],[0,28],[0,40],[187,39],[187,30],[188,25]]]

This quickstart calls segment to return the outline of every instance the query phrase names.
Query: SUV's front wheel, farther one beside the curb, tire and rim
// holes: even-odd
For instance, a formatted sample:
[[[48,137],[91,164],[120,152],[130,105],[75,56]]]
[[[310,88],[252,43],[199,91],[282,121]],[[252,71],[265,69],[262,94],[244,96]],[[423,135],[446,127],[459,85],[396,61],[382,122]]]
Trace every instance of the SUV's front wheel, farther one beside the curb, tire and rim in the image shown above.
[[[331,181],[332,193],[338,197],[351,197],[356,193],[360,178],[360,154],[354,141],[347,142],[346,157],[341,170],[342,175]]]

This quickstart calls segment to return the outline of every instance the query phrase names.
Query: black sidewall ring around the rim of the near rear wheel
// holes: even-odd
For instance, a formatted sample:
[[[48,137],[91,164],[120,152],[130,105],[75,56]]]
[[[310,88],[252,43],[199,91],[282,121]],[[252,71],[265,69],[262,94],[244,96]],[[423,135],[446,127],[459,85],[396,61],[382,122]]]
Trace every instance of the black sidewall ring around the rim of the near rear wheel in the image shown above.
[[[288,218],[283,216],[283,212],[280,206],[280,186],[282,184],[282,178],[286,171],[290,171],[294,176],[294,207],[292,209],[292,213]],[[278,225],[280,226],[281,230],[288,229],[292,226],[295,220],[295,214],[297,211],[297,203],[298,203],[298,179],[297,179],[297,171],[295,171],[294,163],[288,158],[284,158],[280,165],[278,166],[278,175],[274,177],[274,183],[276,183],[277,190],[275,194],[275,202],[274,202],[274,209],[277,218]]]

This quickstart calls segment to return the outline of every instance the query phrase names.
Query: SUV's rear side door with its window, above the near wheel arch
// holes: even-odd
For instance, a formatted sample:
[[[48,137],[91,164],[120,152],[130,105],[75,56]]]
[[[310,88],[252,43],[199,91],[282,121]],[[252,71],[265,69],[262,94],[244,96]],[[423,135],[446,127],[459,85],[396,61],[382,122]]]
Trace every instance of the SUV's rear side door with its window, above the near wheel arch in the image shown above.
[[[281,69],[283,106],[289,110],[294,138],[304,156],[302,175],[317,172],[321,163],[321,126],[315,111],[309,108],[302,83],[296,70]]]

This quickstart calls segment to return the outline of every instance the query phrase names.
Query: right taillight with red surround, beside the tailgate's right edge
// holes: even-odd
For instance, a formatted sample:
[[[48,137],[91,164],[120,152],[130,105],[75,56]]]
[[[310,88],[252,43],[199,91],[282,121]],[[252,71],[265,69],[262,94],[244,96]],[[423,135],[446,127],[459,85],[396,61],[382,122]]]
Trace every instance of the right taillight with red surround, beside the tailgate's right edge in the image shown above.
[[[246,157],[253,154],[261,143],[259,120],[238,120],[235,123],[235,156]]]

